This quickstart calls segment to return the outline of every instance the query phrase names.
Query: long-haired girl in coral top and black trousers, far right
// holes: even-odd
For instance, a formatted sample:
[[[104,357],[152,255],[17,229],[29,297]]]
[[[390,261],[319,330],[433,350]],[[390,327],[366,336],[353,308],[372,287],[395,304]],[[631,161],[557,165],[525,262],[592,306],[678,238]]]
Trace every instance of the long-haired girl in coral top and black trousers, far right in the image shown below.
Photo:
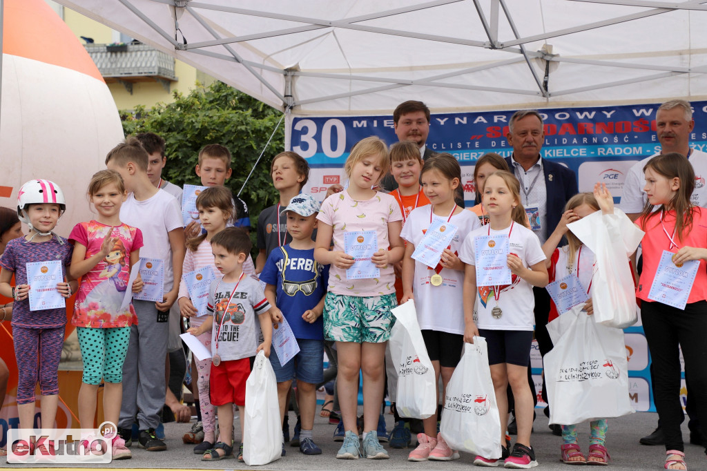
[[[636,219],[636,226],[645,232],[636,296],[641,299],[641,321],[653,360],[655,409],[667,450],[665,468],[684,470],[678,347],[690,394],[696,395],[696,404],[707,404],[707,209],[691,204],[695,173],[682,154],[654,157],[643,173],[648,202]],[[613,214],[614,202],[605,187],[597,199],[604,214]],[[670,286],[667,298],[655,296],[660,286]],[[684,308],[668,304],[685,297]],[[699,407],[697,413],[700,423],[707,424],[707,408]]]

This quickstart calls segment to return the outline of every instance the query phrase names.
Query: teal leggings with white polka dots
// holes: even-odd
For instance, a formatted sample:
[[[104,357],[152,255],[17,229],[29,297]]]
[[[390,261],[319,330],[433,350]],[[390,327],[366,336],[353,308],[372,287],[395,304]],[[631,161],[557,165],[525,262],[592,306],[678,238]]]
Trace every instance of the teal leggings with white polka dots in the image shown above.
[[[83,358],[83,383],[123,382],[123,362],[128,351],[130,327],[76,327]]]

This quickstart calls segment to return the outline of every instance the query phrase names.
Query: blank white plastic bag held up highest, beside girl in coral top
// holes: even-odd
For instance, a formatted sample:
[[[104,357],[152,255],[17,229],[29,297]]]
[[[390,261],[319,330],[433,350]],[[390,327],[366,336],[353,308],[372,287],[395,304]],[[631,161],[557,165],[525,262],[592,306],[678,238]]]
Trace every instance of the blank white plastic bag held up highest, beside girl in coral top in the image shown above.
[[[567,227],[596,257],[592,277],[595,322],[619,329],[635,324],[636,286],[628,257],[641,243],[643,231],[616,208],[614,214],[597,211]]]

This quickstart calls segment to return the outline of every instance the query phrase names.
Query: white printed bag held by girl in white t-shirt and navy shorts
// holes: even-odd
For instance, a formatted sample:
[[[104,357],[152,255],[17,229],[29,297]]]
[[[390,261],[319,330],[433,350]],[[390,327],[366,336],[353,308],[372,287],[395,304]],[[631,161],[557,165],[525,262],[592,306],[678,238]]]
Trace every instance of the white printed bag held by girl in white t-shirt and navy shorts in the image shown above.
[[[447,444],[484,458],[501,458],[501,418],[484,337],[464,344],[446,396],[440,434]]]

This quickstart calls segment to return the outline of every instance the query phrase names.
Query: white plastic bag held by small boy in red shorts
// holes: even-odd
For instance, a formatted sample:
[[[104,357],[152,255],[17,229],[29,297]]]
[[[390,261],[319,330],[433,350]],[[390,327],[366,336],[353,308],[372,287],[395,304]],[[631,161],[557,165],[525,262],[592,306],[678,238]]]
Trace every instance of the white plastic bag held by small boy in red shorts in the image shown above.
[[[262,351],[245,382],[243,460],[246,465],[267,465],[282,453],[282,426],[277,402],[277,380]]]

